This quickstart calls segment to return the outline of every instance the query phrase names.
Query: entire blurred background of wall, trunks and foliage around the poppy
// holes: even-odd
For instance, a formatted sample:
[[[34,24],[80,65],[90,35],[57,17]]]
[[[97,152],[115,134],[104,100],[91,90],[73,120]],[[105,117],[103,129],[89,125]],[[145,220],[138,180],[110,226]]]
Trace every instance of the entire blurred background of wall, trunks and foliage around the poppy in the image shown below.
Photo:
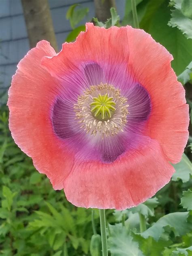
[[[140,28],[174,57],[171,65],[186,90],[192,120],[192,1],[136,4]],[[101,255],[100,240],[93,239],[100,234],[98,210],[74,207],[34,169],[11,138],[6,107],[11,77],[28,50],[46,39],[59,51],[87,21],[134,26],[131,0],[0,0],[0,256]],[[189,131],[169,184],[138,207],[107,210],[110,256],[192,255],[191,121]]]

